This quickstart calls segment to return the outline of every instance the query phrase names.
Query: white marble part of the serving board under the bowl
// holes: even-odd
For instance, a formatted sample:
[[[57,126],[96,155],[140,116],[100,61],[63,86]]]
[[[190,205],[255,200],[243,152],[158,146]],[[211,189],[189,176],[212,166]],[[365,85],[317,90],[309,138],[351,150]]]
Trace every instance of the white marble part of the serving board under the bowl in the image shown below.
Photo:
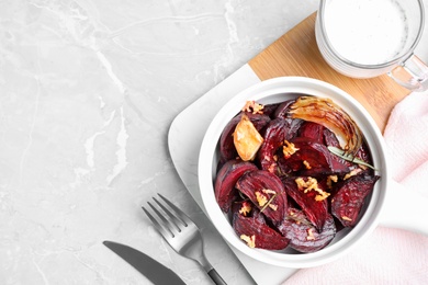
[[[172,162],[190,194],[205,212],[198,183],[198,155],[205,129],[218,110],[234,95],[260,82],[247,64],[202,95],[182,111],[172,122],[168,135],[168,146]],[[205,213],[206,214],[206,213]],[[230,247],[248,273],[259,285],[281,284],[296,269],[273,266],[254,260]]]

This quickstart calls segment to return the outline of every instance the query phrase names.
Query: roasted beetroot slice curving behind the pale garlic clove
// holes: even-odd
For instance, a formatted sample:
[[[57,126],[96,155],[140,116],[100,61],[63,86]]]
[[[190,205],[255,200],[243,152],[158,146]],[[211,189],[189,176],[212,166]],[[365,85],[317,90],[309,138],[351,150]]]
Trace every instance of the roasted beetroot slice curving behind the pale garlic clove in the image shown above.
[[[252,114],[248,112],[240,112],[238,115],[233,117],[229,123],[227,123],[219,137],[219,160],[222,163],[238,157],[238,152],[236,151],[234,145],[233,134],[236,125],[240,122],[243,114],[248,116],[257,130],[262,129],[270,122],[270,117],[268,115]]]

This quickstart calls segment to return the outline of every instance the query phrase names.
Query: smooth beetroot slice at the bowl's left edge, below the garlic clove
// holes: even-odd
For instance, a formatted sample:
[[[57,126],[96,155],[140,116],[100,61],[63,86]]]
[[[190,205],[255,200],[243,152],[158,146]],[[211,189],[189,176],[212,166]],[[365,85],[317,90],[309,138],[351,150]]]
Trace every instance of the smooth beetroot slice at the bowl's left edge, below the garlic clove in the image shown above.
[[[227,213],[230,204],[237,196],[235,184],[247,171],[255,171],[257,167],[251,162],[229,160],[219,169],[214,183],[215,198],[221,209]]]

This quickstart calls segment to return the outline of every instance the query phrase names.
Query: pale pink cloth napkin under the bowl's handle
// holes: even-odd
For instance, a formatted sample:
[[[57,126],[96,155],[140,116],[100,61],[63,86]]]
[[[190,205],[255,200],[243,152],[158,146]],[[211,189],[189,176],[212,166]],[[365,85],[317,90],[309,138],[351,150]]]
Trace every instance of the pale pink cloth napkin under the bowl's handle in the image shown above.
[[[384,138],[392,179],[428,197],[428,92],[395,106]],[[346,256],[300,270],[283,284],[428,284],[428,237],[380,226]]]

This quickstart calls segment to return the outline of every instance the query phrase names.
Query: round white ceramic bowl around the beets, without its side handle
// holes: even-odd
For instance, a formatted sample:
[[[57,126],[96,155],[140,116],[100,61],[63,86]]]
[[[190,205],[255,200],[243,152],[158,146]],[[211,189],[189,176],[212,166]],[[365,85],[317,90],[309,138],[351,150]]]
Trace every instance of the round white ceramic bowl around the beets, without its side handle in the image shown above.
[[[381,179],[375,183],[363,208],[364,214],[352,229],[339,231],[326,248],[313,253],[296,253],[292,249],[270,251],[251,249],[235,233],[227,216],[221,210],[214,196],[214,180],[218,162],[218,139],[226,124],[248,100],[259,103],[278,103],[301,95],[329,98],[340,105],[358,124],[369,145],[373,164]],[[232,98],[216,114],[206,129],[199,157],[199,184],[207,215],[223,238],[240,252],[277,266],[311,267],[341,256],[367,237],[378,225],[387,184],[387,163],[384,142],[379,127],[370,114],[351,95],[329,83],[302,77],[283,77],[262,81]]]

